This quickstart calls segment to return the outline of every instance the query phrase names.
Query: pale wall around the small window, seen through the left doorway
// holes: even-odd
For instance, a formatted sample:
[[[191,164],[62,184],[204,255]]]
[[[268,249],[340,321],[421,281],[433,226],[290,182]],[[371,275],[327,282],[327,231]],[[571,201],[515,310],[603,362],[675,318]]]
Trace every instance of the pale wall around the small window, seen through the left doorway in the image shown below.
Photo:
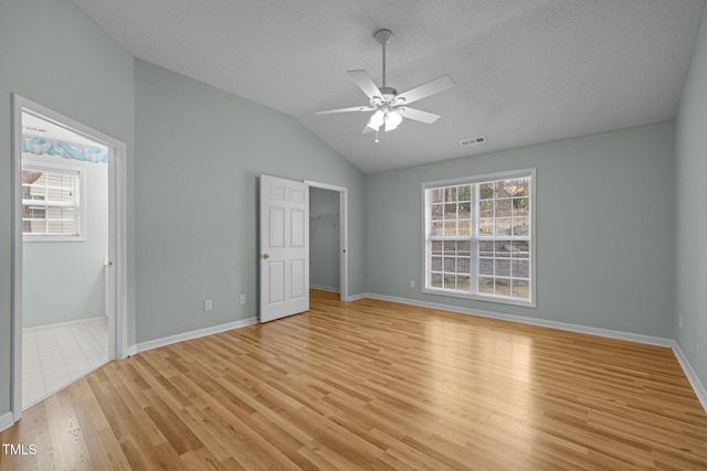
[[[105,315],[104,257],[108,255],[108,165],[22,154],[23,162],[84,169],[86,239],[22,245],[22,327]]]

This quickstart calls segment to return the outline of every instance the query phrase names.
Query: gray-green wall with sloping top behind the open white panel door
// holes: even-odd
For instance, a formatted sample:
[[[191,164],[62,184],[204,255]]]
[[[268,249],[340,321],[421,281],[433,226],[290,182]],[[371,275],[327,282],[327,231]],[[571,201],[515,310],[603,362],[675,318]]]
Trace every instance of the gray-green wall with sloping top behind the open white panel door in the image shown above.
[[[138,342],[256,317],[262,173],[349,190],[349,286],[363,292],[360,171],[292,117],[147,62],[135,87]]]

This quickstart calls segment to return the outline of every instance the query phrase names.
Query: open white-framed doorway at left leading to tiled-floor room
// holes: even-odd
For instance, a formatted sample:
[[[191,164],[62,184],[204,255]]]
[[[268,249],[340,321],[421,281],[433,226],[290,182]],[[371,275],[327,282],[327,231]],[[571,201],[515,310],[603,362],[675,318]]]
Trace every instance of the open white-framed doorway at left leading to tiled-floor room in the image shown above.
[[[125,144],[13,95],[13,420],[125,357]]]

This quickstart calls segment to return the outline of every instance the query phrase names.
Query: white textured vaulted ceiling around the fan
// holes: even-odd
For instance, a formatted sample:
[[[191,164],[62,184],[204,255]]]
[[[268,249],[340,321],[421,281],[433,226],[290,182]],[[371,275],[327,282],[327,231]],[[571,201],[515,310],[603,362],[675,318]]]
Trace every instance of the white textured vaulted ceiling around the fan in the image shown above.
[[[704,0],[74,0],[131,54],[292,115],[366,173],[671,120]],[[362,135],[346,71],[442,115]],[[487,142],[462,148],[484,135]]]

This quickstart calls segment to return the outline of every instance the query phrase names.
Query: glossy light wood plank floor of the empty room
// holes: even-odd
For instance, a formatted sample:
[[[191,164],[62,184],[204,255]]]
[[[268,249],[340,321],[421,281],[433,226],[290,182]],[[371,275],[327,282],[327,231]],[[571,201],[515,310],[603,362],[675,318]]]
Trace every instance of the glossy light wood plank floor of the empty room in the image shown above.
[[[336,297],[103,366],[0,469],[707,469],[669,349]]]

